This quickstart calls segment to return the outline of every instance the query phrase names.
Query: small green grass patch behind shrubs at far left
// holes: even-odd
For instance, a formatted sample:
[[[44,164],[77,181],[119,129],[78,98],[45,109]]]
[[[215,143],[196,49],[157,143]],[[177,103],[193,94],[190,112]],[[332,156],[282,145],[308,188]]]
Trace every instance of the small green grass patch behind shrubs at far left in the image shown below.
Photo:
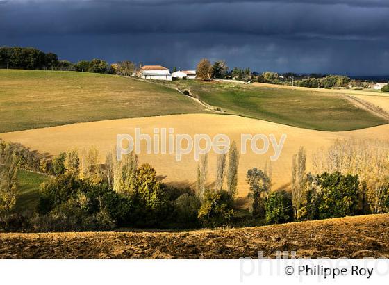
[[[42,174],[19,170],[15,211],[34,211],[40,197],[40,184],[48,179],[49,177]]]

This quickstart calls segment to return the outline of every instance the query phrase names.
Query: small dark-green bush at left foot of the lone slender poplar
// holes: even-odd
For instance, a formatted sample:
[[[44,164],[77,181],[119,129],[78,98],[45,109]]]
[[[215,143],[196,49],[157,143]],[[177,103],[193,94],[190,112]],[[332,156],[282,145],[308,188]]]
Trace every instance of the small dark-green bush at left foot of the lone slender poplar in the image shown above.
[[[274,191],[265,200],[266,222],[280,224],[293,217],[292,198],[286,191]]]

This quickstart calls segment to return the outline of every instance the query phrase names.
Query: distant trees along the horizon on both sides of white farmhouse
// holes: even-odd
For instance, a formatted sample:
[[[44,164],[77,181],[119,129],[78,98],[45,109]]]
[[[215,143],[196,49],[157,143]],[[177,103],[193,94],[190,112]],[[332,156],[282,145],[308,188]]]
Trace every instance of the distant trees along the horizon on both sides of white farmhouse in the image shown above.
[[[126,60],[109,65],[106,60],[80,60],[72,63],[68,60],[58,60],[51,52],[44,53],[33,47],[0,47],[0,68],[22,70],[66,70],[77,72],[94,72],[131,76],[139,67]],[[173,71],[176,67],[173,68]],[[197,65],[197,76],[210,79],[235,79],[246,82],[260,82],[301,86],[311,88],[369,88],[371,81],[351,79],[347,76],[326,74],[295,74],[292,72],[278,74],[276,72],[252,72],[249,67],[234,67],[229,69],[225,60],[217,60],[213,64],[203,58]],[[386,91],[389,87],[383,89]]]

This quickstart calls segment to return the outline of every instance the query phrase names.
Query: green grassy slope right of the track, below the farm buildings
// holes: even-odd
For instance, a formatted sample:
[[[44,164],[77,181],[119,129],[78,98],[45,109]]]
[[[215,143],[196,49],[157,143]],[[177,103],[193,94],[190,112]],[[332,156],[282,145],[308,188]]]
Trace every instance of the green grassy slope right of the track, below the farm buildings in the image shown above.
[[[331,92],[245,86],[235,83],[174,81],[190,88],[202,101],[228,113],[321,131],[349,131],[386,120],[356,108]]]

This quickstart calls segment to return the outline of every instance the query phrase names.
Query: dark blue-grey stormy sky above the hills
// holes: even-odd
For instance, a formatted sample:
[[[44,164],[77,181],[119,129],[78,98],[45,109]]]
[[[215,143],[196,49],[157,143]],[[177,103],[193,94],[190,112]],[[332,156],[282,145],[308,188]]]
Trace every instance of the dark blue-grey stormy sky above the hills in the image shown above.
[[[0,0],[0,46],[181,69],[389,74],[388,0]]]

